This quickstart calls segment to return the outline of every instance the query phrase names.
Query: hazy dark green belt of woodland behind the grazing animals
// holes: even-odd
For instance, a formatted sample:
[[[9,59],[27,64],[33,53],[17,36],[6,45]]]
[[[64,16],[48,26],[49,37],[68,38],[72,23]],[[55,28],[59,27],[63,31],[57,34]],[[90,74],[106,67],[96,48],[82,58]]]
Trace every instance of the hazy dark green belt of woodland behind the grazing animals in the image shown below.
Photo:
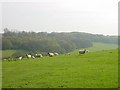
[[[2,49],[28,50],[39,52],[70,52],[92,46],[92,42],[117,43],[116,36],[104,36],[81,32],[13,32],[4,29]]]

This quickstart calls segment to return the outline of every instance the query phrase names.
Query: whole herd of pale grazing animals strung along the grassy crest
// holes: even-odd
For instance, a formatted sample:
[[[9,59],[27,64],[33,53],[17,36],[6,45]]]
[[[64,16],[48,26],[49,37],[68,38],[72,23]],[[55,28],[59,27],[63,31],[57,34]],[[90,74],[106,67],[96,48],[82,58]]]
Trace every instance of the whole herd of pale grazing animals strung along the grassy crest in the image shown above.
[[[79,54],[85,54],[86,52],[89,52],[88,50],[86,49],[83,49],[83,50],[79,50]],[[58,53],[47,53],[47,55],[49,57],[53,57],[53,56],[57,56],[59,55]],[[67,53],[65,55],[71,55],[70,53]],[[26,58],[42,58],[43,55],[42,54],[35,54],[35,55],[31,55],[31,54],[26,54]],[[22,60],[24,57],[23,56],[19,56],[17,57],[18,60]],[[7,60],[7,59],[3,59],[3,60]]]

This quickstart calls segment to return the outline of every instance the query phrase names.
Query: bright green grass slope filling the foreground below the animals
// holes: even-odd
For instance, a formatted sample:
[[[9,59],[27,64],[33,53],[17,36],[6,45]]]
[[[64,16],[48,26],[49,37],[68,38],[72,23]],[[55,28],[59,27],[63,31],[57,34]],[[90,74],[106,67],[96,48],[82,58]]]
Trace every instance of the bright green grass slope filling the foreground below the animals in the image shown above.
[[[3,88],[118,87],[117,49],[83,55],[75,51],[71,55],[3,61],[2,64]]]

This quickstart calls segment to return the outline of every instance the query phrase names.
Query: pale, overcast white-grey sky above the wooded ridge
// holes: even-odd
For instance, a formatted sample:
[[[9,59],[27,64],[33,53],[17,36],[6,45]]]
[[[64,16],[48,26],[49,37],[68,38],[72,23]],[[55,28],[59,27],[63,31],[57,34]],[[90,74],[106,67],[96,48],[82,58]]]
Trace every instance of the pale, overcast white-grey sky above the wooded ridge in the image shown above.
[[[1,31],[118,34],[119,0],[4,0]]]

